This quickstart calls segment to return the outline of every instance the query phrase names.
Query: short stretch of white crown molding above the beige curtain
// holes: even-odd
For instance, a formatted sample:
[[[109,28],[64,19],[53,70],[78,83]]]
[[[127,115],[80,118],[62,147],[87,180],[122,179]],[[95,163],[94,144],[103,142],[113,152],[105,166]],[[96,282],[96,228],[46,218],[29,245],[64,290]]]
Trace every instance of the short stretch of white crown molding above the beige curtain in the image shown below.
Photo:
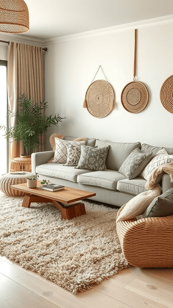
[[[23,36],[22,34],[14,34],[14,33],[5,33],[5,32],[0,32],[0,38],[3,40],[7,41],[17,41],[20,43],[29,43],[29,44],[34,44],[40,47],[43,47],[44,41],[40,39],[33,39],[28,36]]]

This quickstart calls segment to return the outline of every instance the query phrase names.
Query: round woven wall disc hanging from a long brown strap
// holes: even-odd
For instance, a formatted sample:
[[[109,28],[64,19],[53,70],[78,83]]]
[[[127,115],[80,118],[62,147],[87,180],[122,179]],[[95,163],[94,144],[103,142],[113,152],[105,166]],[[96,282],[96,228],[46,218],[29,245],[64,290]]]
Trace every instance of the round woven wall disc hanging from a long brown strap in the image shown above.
[[[128,83],[122,91],[121,102],[123,107],[131,113],[142,111],[148,102],[147,88],[139,81]]]

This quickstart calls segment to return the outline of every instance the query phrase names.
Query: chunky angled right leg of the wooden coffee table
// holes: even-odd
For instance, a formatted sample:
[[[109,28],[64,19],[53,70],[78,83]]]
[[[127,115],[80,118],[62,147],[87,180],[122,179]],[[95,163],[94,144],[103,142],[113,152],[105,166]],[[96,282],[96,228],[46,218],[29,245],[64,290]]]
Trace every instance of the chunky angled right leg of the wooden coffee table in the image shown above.
[[[86,214],[85,205],[81,202],[69,206],[65,206],[61,202],[55,200],[52,200],[52,203],[61,211],[61,217],[63,219],[72,219]]]

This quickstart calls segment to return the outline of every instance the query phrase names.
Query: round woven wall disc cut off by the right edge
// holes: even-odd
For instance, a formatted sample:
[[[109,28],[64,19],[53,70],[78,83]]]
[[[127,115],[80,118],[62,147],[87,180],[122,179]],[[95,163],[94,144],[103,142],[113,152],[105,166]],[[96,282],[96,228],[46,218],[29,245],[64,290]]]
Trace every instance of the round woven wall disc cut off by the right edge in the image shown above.
[[[163,107],[173,113],[173,75],[164,81],[160,89],[160,100]]]

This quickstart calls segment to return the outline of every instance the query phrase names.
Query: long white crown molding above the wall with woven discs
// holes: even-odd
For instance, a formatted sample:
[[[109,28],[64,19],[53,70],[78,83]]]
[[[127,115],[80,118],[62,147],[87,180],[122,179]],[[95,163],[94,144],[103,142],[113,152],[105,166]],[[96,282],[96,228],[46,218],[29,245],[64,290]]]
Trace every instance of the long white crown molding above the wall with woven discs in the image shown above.
[[[132,30],[136,28],[139,29],[139,28],[146,28],[146,27],[151,27],[151,26],[158,26],[158,25],[172,23],[172,22],[173,22],[173,14],[162,16],[162,17],[157,17],[157,18],[141,20],[138,22],[130,22],[127,24],[102,28],[98,30],[91,30],[91,31],[86,31],[82,33],[61,36],[61,37],[57,37],[53,39],[46,39],[46,40],[43,40],[43,45],[64,43],[64,42],[73,41],[76,39],[83,39],[83,38],[92,37],[92,36],[110,34],[110,33],[123,31],[123,30]]]

